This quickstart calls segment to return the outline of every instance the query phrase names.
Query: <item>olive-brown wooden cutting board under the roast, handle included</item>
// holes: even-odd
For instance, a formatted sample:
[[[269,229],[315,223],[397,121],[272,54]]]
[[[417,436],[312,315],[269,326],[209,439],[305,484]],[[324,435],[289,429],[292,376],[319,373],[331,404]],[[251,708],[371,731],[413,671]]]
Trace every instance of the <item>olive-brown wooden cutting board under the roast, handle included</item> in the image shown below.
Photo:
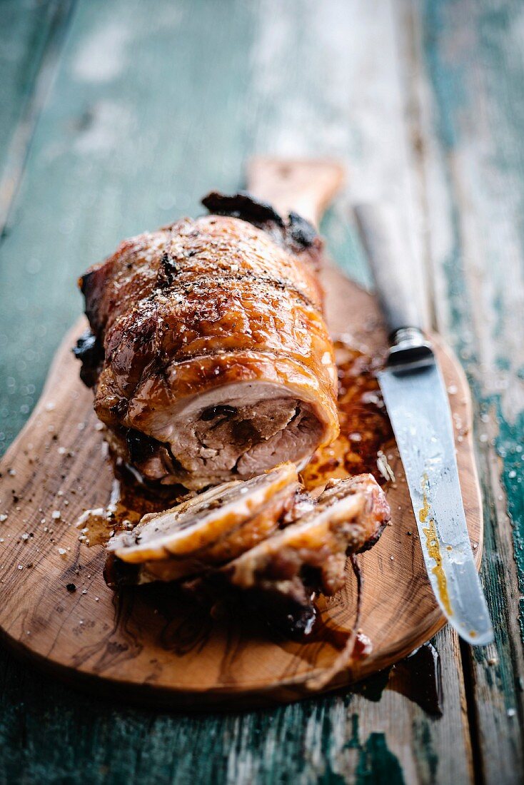
[[[251,190],[280,208],[318,221],[339,188],[338,166],[258,159]],[[72,282],[71,282],[72,285]],[[332,334],[375,354],[386,347],[375,299],[334,267],[324,273]],[[134,701],[200,708],[264,705],[311,694],[311,677],[334,662],[355,619],[352,571],[336,597],[319,601],[313,639],[288,641],[246,629],[238,619],[211,619],[170,586],[143,586],[117,596],[102,577],[104,552],[79,542],[75,521],[108,503],[112,471],[92,409],[64,338],[31,419],[0,471],[0,629],[20,654],[60,677]],[[482,506],[471,439],[471,399],[453,353],[434,336],[456,425],[456,451],[467,524],[477,566]],[[396,481],[393,513],[379,543],[360,557],[364,579],[361,630],[372,651],[322,689],[360,680],[394,663],[445,623],[434,600],[416,535],[409,492],[395,447],[388,450]],[[74,583],[75,592],[66,588]],[[244,626],[244,629],[242,629]]]

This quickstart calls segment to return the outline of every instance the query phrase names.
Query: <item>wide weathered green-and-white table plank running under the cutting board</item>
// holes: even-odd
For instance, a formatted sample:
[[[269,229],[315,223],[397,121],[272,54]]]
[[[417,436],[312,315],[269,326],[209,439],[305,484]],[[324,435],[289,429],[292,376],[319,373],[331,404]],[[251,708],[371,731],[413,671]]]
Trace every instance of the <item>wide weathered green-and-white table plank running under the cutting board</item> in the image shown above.
[[[360,279],[365,265],[346,228],[351,199],[393,197],[418,228],[423,199],[404,122],[411,93],[392,9],[387,2],[188,0],[157,2],[152,14],[138,2],[79,4],[2,247],[4,441],[27,417],[79,310],[71,279],[124,235],[194,213],[210,185],[236,187],[251,152],[321,151],[349,162],[346,199],[324,228]],[[423,90],[431,91],[425,68]],[[423,128],[427,143],[431,122]],[[447,294],[447,284],[438,286]],[[441,323],[453,334],[465,322]],[[376,704],[335,696],[225,718],[153,715],[42,685],[39,674],[2,655],[0,734],[9,751],[0,779],[16,779],[21,760],[27,779],[43,781],[82,768],[94,783],[467,782],[454,634],[442,633],[438,648],[440,721],[392,692]]]

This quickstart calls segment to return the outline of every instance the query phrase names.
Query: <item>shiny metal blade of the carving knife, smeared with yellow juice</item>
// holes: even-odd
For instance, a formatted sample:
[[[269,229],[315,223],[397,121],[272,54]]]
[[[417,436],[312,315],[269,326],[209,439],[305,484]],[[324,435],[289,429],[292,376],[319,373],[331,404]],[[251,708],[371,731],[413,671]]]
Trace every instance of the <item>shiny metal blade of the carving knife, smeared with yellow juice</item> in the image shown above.
[[[493,641],[467,533],[448,396],[434,361],[379,374],[409,487],[427,575],[442,612],[465,641]]]

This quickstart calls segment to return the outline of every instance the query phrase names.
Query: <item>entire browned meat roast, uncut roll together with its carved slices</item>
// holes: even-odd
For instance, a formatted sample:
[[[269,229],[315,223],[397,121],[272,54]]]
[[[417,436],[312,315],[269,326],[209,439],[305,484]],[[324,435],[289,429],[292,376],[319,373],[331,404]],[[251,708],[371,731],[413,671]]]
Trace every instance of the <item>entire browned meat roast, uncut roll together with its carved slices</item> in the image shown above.
[[[390,511],[371,475],[317,497],[299,480],[339,433],[315,230],[247,194],[203,204],[210,215],[127,240],[80,279],[90,331],[75,353],[113,455],[201,491],[115,531],[104,576],[115,590],[179,582],[211,606],[240,593],[304,632],[313,595],[343,586],[346,556]]]

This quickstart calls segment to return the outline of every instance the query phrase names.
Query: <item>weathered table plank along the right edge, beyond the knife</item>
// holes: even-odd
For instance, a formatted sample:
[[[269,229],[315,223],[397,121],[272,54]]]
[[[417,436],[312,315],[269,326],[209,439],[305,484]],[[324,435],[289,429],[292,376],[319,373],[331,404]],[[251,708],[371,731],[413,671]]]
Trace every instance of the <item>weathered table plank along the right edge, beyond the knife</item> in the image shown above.
[[[485,498],[482,579],[496,644],[465,652],[486,782],[522,779],[522,8],[406,3],[406,79],[427,205],[437,323],[476,396]],[[422,56],[420,52],[422,51]],[[421,74],[423,75],[421,77]],[[427,75],[427,82],[425,81]],[[520,623],[520,630],[519,630]],[[519,634],[520,633],[520,634]]]

